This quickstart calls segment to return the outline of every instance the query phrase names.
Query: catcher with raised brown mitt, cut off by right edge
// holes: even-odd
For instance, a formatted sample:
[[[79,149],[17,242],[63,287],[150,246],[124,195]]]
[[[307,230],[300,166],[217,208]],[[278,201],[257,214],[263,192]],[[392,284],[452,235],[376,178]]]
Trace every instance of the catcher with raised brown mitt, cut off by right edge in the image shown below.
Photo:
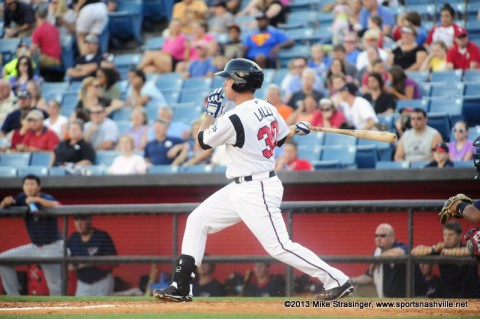
[[[480,136],[475,139],[473,146],[476,147],[476,152],[473,154],[473,164],[477,169],[475,180],[480,181]],[[480,200],[474,202],[464,194],[457,194],[445,202],[439,215],[443,225],[452,217],[465,218],[471,223],[480,225]],[[480,261],[480,227],[470,229],[464,237],[470,254]]]

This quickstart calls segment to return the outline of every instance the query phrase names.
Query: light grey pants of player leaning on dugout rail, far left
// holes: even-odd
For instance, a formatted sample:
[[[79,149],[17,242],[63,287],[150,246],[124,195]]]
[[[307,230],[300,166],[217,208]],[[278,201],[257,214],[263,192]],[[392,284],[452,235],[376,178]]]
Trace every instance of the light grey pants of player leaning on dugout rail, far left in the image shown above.
[[[3,253],[0,257],[61,257],[63,256],[63,240],[54,241],[44,246],[35,246],[27,244],[12,248]],[[59,296],[61,294],[61,265],[60,264],[41,264],[45,279],[47,281],[50,296]],[[0,276],[2,277],[3,289],[8,295],[18,295],[18,278],[15,267],[1,265]]]

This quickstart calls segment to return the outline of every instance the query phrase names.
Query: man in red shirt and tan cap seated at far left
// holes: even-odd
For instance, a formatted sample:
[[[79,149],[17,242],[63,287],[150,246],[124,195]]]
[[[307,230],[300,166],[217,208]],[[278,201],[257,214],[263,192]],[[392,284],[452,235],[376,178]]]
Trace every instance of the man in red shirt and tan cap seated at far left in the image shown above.
[[[27,115],[27,121],[30,130],[23,139],[26,151],[53,151],[59,139],[55,132],[43,126],[43,113],[40,110],[32,110]]]

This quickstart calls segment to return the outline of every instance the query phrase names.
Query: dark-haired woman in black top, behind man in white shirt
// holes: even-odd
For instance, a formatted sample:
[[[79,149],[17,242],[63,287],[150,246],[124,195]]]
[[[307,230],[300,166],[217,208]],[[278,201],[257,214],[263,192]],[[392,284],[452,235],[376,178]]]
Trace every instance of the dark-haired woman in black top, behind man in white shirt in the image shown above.
[[[392,94],[385,90],[383,77],[380,73],[372,72],[368,75],[368,91],[363,98],[373,105],[375,113],[387,115],[395,111],[395,100]]]

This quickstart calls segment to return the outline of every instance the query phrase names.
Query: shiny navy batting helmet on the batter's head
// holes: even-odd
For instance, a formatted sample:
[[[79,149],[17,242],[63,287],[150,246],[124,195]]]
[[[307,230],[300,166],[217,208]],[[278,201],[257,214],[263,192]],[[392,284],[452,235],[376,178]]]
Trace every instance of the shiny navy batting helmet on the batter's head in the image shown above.
[[[255,62],[247,59],[230,60],[225,69],[215,75],[234,79],[232,89],[235,92],[255,91],[261,88],[263,83],[262,69]]]

